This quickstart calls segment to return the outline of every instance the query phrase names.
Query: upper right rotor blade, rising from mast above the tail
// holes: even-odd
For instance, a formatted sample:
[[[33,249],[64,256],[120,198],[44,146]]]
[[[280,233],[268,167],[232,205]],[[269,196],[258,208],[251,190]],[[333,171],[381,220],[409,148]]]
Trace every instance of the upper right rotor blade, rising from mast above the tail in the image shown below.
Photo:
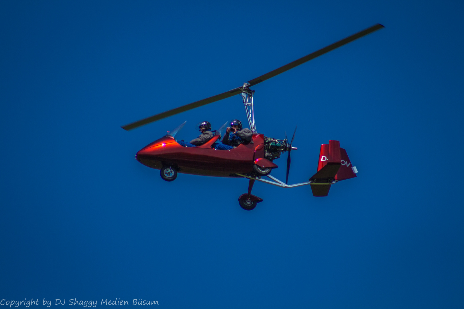
[[[306,55],[304,57],[301,57],[300,59],[297,59],[293,62],[290,62],[289,64],[285,64],[284,66],[278,68],[278,69],[275,69],[269,73],[266,73],[264,75],[261,75],[261,76],[258,76],[256,77],[255,79],[252,79],[251,81],[248,81],[249,82],[249,85],[246,85],[247,87],[251,87],[251,86],[254,86],[260,82],[263,82],[265,81],[266,79],[269,79],[271,77],[274,77],[280,73],[283,73],[289,69],[293,69],[295,68],[296,66],[302,64],[302,63],[305,63],[311,59],[314,59],[316,57],[319,57],[327,52],[329,52],[330,50],[335,50],[335,48],[337,47],[340,47],[342,45],[345,45],[345,44],[348,44],[349,42],[351,41],[354,41],[355,39],[357,38],[361,38],[369,33],[372,33],[374,31],[377,31],[379,29],[382,29],[382,28],[385,28],[383,25],[380,25],[380,24],[377,24],[377,25],[373,25],[372,27],[370,28],[367,28],[366,30],[363,30],[363,31],[360,31],[358,33],[355,33],[353,35],[350,35],[348,38],[344,38],[334,44],[330,44],[329,46],[326,46],[320,50],[317,50],[309,55]]]

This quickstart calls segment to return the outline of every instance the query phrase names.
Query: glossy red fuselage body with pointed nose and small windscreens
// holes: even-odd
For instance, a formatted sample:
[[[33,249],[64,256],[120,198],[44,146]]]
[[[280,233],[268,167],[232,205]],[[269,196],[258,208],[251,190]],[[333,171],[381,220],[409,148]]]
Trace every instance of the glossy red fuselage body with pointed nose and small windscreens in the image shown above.
[[[264,135],[253,134],[252,143],[241,144],[231,150],[211,148],[219,135],[197,147],[183,147],[173,138],[164,136],[137,152],[137,160],[154,169],[174,166],[179,173],[233,177],[253,171],[253,164],[266,161],[266,165],[277,165],[264,159]],[[271,166],[270,166],[271,167]]]

